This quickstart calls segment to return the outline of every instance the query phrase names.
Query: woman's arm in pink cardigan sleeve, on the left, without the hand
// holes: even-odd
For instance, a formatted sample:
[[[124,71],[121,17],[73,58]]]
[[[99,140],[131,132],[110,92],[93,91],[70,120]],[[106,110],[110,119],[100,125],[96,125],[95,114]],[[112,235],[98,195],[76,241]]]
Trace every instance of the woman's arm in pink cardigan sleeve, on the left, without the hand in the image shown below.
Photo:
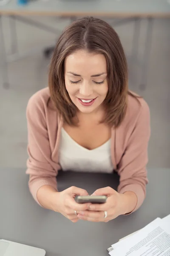
[[[57,171],[59,165],[51,160],[51,149],[47,131],[47,121],[45,116],[45,100],[42,100],[40,92],[34,94],[28,102],[27,106],[27,124],[28,124],[28,155],[27,171],[29,174],[29,189],[40,205],[47,205],[46,199],[48,194],[57,191]],[[55,124],[54,124],[55,125]],[[47,198],[43,200],[41,191],[47,187]],[[37,191],[45,186],[39,192]],[[49,186],[51,187],[49,191]],[[39,201],[40,199],[40,201]]]

